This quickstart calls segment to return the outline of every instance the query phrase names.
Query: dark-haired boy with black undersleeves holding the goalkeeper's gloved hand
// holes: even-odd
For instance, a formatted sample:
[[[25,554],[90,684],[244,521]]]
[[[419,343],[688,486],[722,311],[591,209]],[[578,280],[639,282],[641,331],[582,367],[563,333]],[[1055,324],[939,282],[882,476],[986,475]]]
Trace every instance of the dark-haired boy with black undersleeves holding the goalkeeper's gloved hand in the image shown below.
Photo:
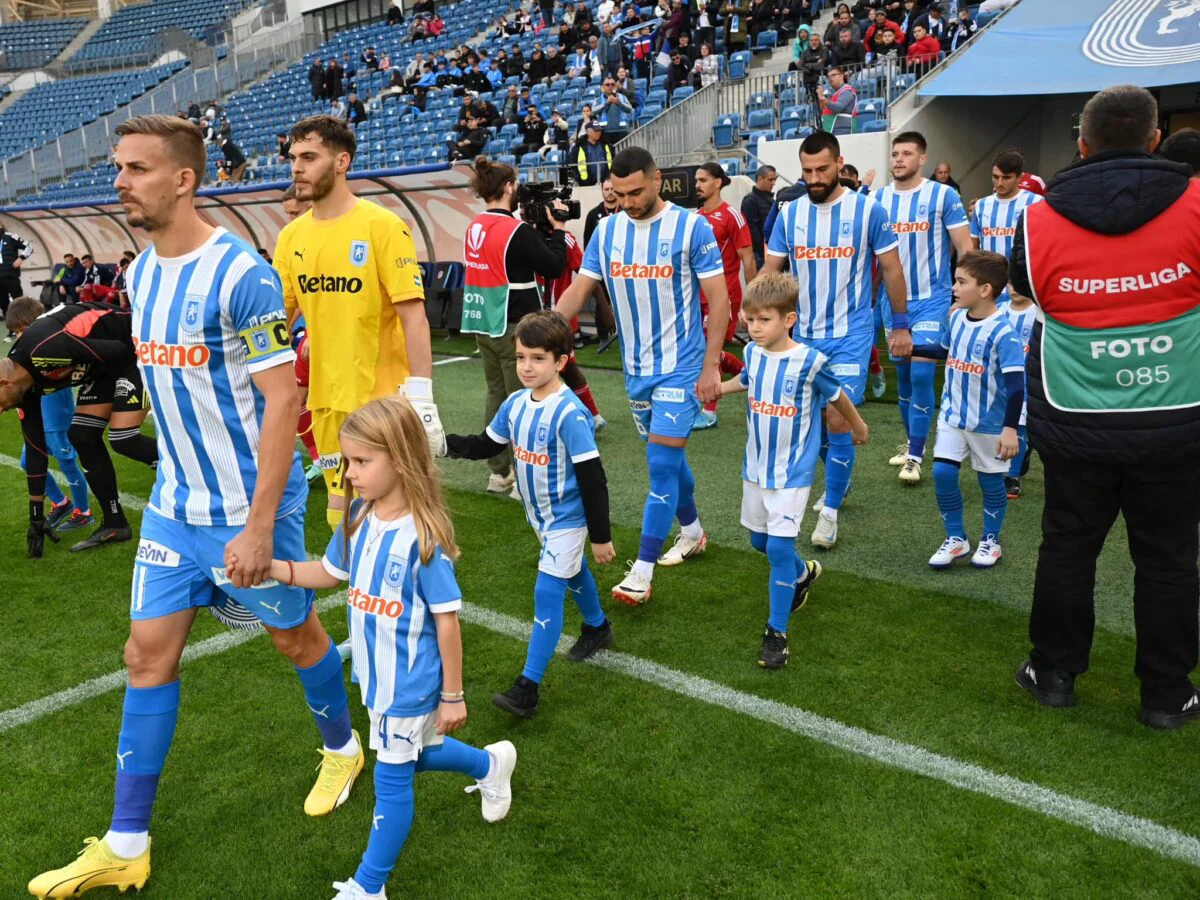
[[[516,491],[538,533],[538,582],[526,667],[492,702],[529,719],[538,713],[538,689],[563,636],[563,598],[570,592],[583,629],[566,658],[586,660],[612,646],[612,625],[600,608],[595,578],[583,554],[592,538],[596,563],[612,562],[608,486],[596,450],[592,416],[563,383],[571,328],[557,312],[530,312],[516,329],[517,377],[526,386],[505,400],[482,434],[448,434],[449,455],[490,460],[512,445]]]

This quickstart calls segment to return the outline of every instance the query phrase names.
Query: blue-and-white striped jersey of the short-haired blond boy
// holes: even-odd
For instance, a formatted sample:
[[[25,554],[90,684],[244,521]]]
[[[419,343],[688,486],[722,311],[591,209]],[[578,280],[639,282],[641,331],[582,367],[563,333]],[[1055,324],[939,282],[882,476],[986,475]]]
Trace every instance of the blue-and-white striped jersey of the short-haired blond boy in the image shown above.
[[[821,400],[836,400],[841,383],[803,343],[782,353],[748,343],[743,358],[750,396],[742,480],[768,490],[808,487],[821,451]]]

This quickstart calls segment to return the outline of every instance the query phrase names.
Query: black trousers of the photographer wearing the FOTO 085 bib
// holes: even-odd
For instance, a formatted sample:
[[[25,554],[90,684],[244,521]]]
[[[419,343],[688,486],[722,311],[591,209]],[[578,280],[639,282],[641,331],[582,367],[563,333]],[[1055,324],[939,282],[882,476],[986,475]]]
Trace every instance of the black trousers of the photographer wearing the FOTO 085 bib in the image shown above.
[[[1200,613],[1200,463],[1104,466],[1042,457],[1045,508],[1030,613],[1038,668],[1087,671],[1096,626],[1096,559],[1117,512],[1134,564],[1134,672],[1141,704],[1175,709],[1192,692]]]

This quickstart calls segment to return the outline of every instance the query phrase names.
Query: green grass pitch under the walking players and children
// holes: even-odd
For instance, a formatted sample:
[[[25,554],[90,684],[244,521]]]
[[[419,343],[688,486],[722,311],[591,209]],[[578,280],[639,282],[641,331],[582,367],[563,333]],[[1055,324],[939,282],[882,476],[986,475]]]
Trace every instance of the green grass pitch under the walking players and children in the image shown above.
[[[618,564],[596,570],[604,599],[619,563],[636,554],[646,467],[619,373],[588,374],[610,421],[600,451]],[[438,366],[434,380],[448,430],[478,431],[479,364]],[[739,398],[722,402],[720,426],[695,434],[689,450],[708,552],[660,570],[643,608],[605,600],[617,649],[682,678],[1144,817],[1147,834],[1157,823],[1200,835],[1200,728],[1160,734],[1135,719],[1123,533],[1114,533],[1100,560],[1093,671],[1079,683],[1080,704],[1042,709],[1013,684],[1027,650],[1039,540],[1037,461],[1025,497],[1009,505],[1001,566],[932,572],[926,559],[942,535],[928,475],[904,487],[886,463],[900,440],[894,404],[868,403],[864,415],[871,443],[859,451],[841,542],[820,557],[826,576],[792,620],[786,670],[755,665],[767,563],[738,524]],[[18,451],[16,418],[0,418],[0,452]],[[118,468],[125,492],[149,496],[148,470],[124,460]],[[536,544],[518,504],[484,493],[487,472],[482,463],[444,464],[463,551],[460,581],[475,606],[528,620]],[[978,487],[970,474],[962,486],[977,530]],[[134,546],[70,554],[65,540],[44,559],[26,560],[20,474],[0,466],[0,491],[4,721],[2,710],[120,668]],[[323,505],[317,490],[311,552],[328,540]],[[344,636],[340,608],[323,619],[335,638]],[[570,606],[566,623],[568,635],[577,634]],[[193,642],[221,631],[202,614]],[[541,714],[517,722],[490,697],[521,671],[523,642],[472,623],[463,642],[470,719],[461,737],[517,745],[512,811],[487,826],[463,779],[419,778],[392,896],[1200,896],[1200,868],[1187,862],[610,668],[557,658]],[[144,896],[331,896],[330,883],[358,865],[371,826],[370,764],[344,806],[307,818],[301,804],[319,739],[290,666],[268,641],[185,662],[182,682]],[[22,896],[29,877],[103,834],[120,707],[113,690],[0,731],[0,896]],[[353,692],[352,713],[361,731],[366,713]]]

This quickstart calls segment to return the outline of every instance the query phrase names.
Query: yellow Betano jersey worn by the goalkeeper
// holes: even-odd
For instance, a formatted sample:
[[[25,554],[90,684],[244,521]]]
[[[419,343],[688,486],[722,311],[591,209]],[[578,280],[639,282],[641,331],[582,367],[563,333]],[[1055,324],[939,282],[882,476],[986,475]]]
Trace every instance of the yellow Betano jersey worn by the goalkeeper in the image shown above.
[[[391,305],[425,298],[404,221],[364,199],[332,220],[310,210],[280,232],[275,269],[308,328],[308,408],[352,413],[395,392],[409,372]]]

